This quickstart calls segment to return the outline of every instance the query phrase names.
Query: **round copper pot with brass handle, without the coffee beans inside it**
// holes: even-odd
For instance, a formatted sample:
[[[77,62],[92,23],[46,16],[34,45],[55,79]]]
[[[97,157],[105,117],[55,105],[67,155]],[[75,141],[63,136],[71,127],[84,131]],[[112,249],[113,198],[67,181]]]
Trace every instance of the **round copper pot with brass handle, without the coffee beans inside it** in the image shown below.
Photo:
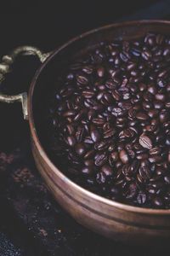
[[[38,106],[44,105],[43,98],[47,92],[47,84],[54,81],[71,56],[98,44],[101,40],[139,38],[145,32],[169,34],[170,21],[139,20],[103,26],[72,39],[48,54],[42,54],[39,49],[34,47],[19,47],[11,55],[4,56],[3,63],[0,65],[0,81],[2,81],[4,74],[9,72],[9,66],[15,56],[19,54],[37,55],[40,61],[44,61],[32,79],[28,102],[26,93],[18,96],[0,95],[0,101],[22,102],[24,117],[29,120],[30,124],[32,153],[37,168],[59,204],[78,223],[88,229],[114,240],[133,244],[167,242],[170,237],[170,210],[132,207],[110,201],[82,189],[65,177],[48,158],[47,151],[42,145],[42,127],[39,125],[41,114],[38,112],[41,109]],[[44,85],[44,81],[46,81],[46,85]]]

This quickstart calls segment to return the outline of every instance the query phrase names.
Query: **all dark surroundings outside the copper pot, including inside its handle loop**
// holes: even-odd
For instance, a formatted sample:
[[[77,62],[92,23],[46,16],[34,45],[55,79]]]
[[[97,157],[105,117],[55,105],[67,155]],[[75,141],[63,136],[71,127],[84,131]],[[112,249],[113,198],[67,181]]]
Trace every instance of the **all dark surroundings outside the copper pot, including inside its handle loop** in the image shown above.
[[[0,55],[22,44],[49,51],[94,27],[139,19],[169,20],[170,0],[1,1]],[[28,90],[38,65],[35,59],[20,59],[1,89]],[[37,174],[20,106],[0,104],[0,116],[0,256],[169,255],[168,249],[122,246],[76,224]]]

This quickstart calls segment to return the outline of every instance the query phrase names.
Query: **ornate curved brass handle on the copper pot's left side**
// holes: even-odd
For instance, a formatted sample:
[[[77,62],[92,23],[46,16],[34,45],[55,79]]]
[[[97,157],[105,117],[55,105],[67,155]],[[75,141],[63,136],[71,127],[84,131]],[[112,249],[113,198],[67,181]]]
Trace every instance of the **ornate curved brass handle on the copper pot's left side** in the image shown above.
[[[14,63],[15,58],[18,55],[37,55],[41,62],[48,58],[49,53],[42,53],[40,49],[33,46],[20,46],[14,49],[9,55],[4,55],[2,63],[0,63],[0,84],[5,79],[5,75],[11,72],[11,65]],[[23,92],[18,95],[8,96],[0,94],[0,102],[14,103],[21,102],[24,119],[28,119],[28,108],[27,108],[27,93]]]

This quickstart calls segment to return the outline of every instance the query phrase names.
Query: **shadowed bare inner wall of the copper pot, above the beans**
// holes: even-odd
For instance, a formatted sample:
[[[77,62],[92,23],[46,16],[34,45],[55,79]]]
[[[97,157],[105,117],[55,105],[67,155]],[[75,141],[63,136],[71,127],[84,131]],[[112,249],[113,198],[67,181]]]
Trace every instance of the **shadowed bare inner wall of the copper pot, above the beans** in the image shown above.
[[[144,36],[146,32],[170,33],[169,21],[133,21],[122,24],[104,26],[92,32],[88,32],[72,39],[61,48],[56,49],[54,54],[42,65],[37,72],[37,80],[32,83],[32,114],[37,136],[42,148],[50,154],[47,147],[47,131],[44,129],[47,123],[47,109],[51,93],[57,79],[65,73],[65,67],[77,55],[82,55],[88,49],[93,48],[101,41],[112,41],[122,39],[134,39]],[[49,131],[50,132],[50,131]],[[60,163],[57,164],[59,168]]]

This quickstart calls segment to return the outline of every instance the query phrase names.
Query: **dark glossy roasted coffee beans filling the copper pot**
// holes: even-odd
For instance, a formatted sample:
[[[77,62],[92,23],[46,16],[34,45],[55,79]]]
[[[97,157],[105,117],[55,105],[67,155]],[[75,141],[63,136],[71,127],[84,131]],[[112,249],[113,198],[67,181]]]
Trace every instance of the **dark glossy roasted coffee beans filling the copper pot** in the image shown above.
[[[71,178],[113,201],[170,208],[170,37],[101,42],[59,79],[50,148]]]

